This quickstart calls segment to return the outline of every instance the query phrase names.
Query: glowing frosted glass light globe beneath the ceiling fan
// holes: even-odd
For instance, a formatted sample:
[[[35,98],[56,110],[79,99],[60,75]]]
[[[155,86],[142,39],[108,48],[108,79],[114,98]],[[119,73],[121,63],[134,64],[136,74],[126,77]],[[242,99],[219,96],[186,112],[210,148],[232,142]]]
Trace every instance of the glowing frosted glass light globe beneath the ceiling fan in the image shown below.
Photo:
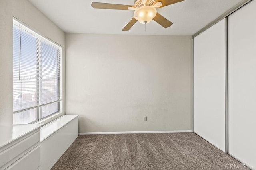
[[[156,13],[156,8],[152,6],[141,6],[134,11],[134,18],[142,24],[145,24],[145,21],[148,24],[156,16]]]

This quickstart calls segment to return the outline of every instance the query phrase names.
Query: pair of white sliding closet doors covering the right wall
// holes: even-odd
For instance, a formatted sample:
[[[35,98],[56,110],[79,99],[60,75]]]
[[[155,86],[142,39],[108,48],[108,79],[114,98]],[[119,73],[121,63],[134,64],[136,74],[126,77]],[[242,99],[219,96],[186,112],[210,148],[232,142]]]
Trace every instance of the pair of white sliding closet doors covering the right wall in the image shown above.
[[[255,170],[256,0],[194,37],[193,46],[193,130]]]

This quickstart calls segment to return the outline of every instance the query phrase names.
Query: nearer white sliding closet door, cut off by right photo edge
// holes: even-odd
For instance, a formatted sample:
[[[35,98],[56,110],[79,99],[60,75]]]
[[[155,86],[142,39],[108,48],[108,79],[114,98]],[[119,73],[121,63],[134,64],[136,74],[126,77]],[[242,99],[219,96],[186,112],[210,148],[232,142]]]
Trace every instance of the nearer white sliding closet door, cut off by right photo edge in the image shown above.
[[[256,0],[228,18],[229,150],[256,169]]]

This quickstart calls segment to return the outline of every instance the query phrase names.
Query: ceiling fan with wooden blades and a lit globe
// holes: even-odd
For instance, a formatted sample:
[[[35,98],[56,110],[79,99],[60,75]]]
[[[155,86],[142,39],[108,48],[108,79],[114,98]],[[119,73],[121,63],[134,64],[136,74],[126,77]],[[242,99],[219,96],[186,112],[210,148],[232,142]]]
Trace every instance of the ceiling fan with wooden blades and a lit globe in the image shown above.
[[[92,2],[92,7],[98,9],[135,10],[134,18],[122,29],[122,31],[128,31],[137,21],[146,25],[154,20],[164,28],[170,27],[173,23],[161,16],[156,11],[156,8],[162,8],[181,1],[184,0],[136,0],[134,5]]]

